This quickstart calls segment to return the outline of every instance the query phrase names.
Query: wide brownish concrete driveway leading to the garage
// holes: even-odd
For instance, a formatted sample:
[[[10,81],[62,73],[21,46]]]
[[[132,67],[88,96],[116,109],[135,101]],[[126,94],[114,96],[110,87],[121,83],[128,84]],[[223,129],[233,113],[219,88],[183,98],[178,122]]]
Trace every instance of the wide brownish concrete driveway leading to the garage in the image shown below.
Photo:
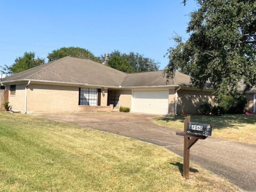
[[[44,118],[111,132],[150,142],[183,156],[183,137],[175,130],[150,122],[157,117],[135,113],[40,114]],[[244,191],[256,192],[256,144],[208,137],[190,149],[190,161],[220,176]]]

